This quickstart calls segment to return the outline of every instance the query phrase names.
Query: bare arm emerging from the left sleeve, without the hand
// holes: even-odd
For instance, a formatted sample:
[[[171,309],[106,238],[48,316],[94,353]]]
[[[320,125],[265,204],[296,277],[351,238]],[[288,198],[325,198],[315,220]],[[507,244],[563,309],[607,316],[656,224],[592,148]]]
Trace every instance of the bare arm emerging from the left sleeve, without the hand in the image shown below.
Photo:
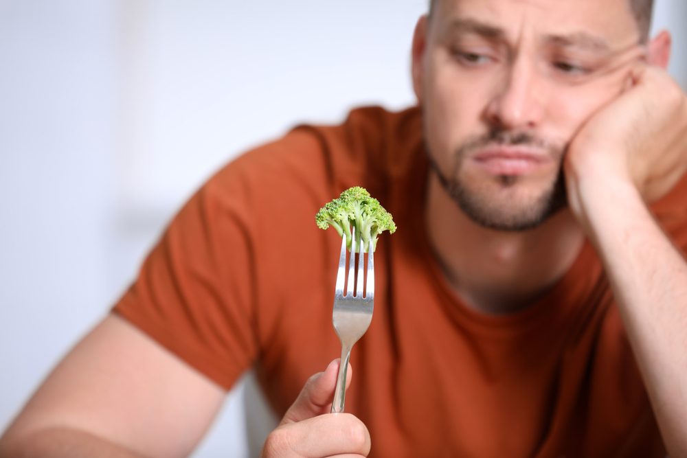
[[[0,439],[0,457],[181,457],[225,392],[111,315],[54,369]]]

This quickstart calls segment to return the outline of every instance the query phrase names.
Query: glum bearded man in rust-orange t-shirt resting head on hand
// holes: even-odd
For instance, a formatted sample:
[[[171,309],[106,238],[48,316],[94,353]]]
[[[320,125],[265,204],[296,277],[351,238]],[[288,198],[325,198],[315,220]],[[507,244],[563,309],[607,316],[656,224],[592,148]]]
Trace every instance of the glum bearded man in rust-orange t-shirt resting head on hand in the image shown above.
[[[354,111],[221,171],[0,455],[187,455],[256,364],[284,413],[264,457],[687,456],[687,102],[649,12],[436,0],[412,49],[421,116]],[[339,240],[313,216],[358,184],[399,229],[354,415],[330,415],[336,361],[300,391],[338,352]]]

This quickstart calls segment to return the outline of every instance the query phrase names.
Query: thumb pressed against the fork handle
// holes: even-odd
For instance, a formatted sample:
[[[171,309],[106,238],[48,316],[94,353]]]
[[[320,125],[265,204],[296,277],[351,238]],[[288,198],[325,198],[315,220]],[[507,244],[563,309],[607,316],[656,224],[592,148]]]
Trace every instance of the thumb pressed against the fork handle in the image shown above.
[[[280,426],[287,423],[302,422],[308,418],[330,412],[334,401],[334,389],[337,385],[339,363],[340,360],[337,358],[329,363],[324,372],[319,372],[308,378],[298,398],[284,414]],[[352,369],[349,363],[346,389],[350,385],[351,374]]]

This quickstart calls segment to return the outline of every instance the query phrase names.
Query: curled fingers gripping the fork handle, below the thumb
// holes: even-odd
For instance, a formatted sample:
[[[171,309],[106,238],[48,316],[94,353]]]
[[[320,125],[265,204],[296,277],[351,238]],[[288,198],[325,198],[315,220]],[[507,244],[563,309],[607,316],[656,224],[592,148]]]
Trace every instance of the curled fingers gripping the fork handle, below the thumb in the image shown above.
[[[262,457],[366,457],[370,433],[365,424],[349,413],[327,413],[272,431],[262,448]]]

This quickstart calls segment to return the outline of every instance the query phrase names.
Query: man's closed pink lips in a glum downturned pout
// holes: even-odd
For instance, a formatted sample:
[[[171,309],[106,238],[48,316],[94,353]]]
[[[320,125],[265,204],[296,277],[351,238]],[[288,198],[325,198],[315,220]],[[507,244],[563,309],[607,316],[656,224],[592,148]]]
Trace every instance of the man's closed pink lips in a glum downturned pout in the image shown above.
[[[488,174],[498,176],[530,174],[552,162],[548,152],[513,146],[486,148],[472,160]]]

